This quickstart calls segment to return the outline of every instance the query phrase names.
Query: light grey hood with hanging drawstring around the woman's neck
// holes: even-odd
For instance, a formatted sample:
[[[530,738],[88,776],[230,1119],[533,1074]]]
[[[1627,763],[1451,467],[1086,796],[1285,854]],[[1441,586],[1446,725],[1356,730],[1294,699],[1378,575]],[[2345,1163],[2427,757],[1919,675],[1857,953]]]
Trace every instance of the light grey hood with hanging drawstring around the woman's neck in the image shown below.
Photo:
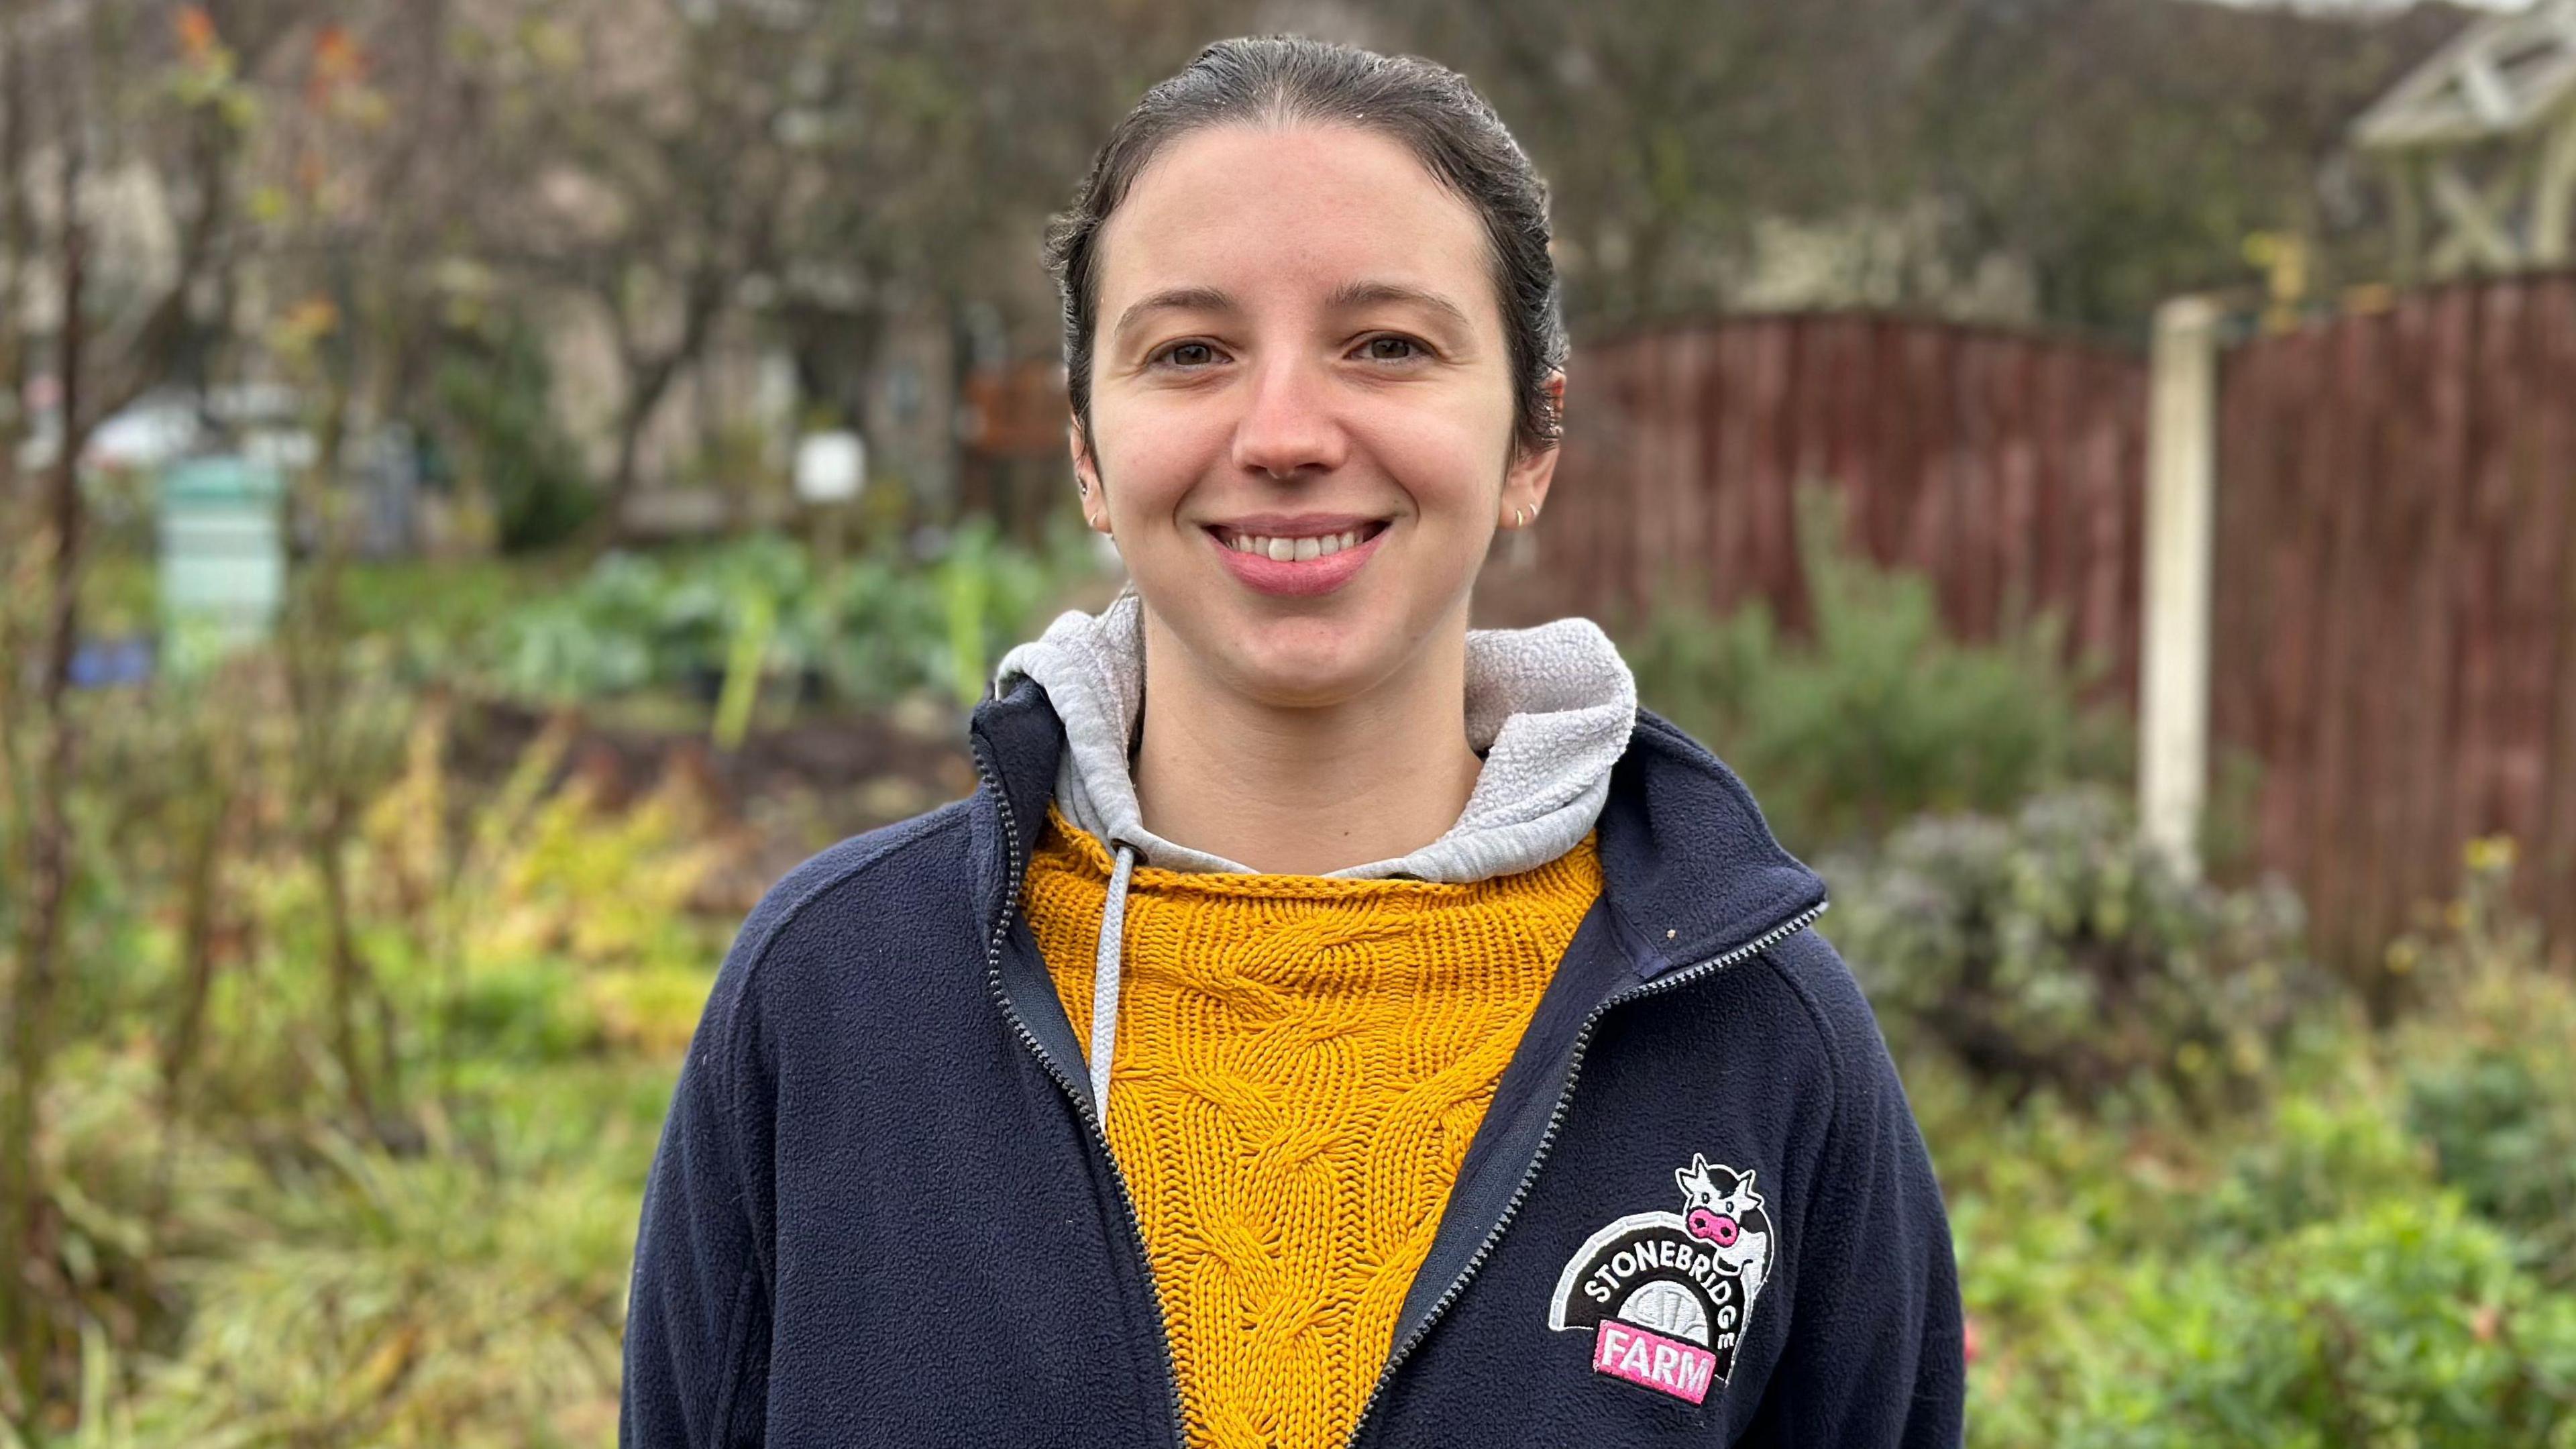
[[[1139,859],[1172,871],[1252,874],[1252,866],[1144,828],[1131,773],[1144,717],[1144,598],[1133,585],[1100,614],[1059,614],[1043,634],[1002,655],[994,694],[1010,694],[1023,676],[1038,681],[1064,719],[1056,807],[1118,856],[1092,977],[1092,1101],[1105,1122],[1128,874]],[[1466,810],[1419,851],[1327,874],[1479,882],[1543,866],[1582,843],[1600,820],[1610,766],[1628,750],[1633,724],[1636,676],[1600,624],[1556,619],[1530,629],[1468,629],[1466,735],[1484,768]]]

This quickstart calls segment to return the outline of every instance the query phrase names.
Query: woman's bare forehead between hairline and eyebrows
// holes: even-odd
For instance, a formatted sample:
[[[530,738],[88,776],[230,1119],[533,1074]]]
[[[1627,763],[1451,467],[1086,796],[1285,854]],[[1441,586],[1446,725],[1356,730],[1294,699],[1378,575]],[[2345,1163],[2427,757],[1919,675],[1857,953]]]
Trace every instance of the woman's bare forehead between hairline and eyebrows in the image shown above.
[[[1211,126],[1172,139],[1103,227],[1097,317],[1167,286],[1260,307],[1365,278],[1484,320],[1489,276],[1476,209],[1404,144],[1355,126]]]

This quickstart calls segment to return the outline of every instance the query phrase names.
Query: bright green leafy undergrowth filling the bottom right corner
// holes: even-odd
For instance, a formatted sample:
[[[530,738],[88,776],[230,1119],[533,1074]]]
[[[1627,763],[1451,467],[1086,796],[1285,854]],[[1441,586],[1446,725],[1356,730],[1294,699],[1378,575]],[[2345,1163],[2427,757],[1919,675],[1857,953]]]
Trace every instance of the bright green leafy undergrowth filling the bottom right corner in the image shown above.
[[[2414,1013],[2303,1000],[2254,1111],[1909,1062],[1981,1343],[1971,1441],[2576,1446],[2576,982],[2504,910],[2509,851],[2470,864],[2391,957]]]

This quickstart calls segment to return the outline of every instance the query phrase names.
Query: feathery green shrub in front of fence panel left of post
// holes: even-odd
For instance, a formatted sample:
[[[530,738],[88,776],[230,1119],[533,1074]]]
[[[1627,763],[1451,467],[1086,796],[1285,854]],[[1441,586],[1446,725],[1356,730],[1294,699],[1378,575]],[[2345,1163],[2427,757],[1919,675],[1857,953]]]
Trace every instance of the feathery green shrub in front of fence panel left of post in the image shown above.
[[[2066,781],[2125,781],[2125,719],[2084,709],[2040,619],[1955,642],[1927,578],[1844,552],[1832,495],[1801,498],[1814,629],[1788,637],[1759,601],[1713,619],[1695,578],[1620,627],[1638,699],[1708,740],[1793,851],[1878,838],[1927,810],[2009,810]]]

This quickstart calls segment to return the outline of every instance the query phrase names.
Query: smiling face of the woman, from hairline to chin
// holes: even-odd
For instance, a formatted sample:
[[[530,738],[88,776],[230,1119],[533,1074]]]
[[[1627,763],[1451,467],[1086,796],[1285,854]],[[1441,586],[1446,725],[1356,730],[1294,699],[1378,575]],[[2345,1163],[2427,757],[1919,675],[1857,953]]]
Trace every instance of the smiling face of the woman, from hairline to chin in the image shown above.
[[[1337,704],[1463,627],[1556,467],[1515,449],[1473,206],[1370,131],[1203,129],[1110,214],[1097,278],[1084,513],[1195,668]]]

